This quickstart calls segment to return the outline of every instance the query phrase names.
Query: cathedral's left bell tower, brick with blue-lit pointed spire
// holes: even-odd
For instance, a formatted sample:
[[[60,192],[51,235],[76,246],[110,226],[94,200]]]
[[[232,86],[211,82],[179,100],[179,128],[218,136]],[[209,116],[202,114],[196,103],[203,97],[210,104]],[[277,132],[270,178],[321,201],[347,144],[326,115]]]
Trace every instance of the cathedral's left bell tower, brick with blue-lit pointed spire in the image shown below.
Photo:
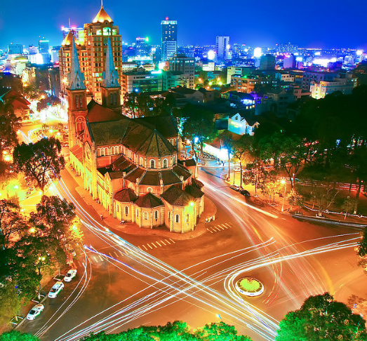
[[[81,72],[79,66],[78,53],[76,52],[74,39],[72,40],[69,83],[66,90],[68,102],[69,147],[72,148],[76,145],[79,134],[84,131],[86,115],[88,114],[84,74]]]

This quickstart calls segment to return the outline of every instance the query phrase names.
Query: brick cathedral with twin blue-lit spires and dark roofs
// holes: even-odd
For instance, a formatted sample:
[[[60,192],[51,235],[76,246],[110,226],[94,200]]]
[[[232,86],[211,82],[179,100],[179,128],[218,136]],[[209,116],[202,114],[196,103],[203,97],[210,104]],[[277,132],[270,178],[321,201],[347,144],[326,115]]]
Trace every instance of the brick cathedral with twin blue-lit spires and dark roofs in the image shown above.
[[[87,103],[74,38],[67,79],[69,158],[95,201],[118,220],[139,227],[165,225],[191,232],[203,213],[203,185],[192,161],[180,161],[172,116],[129,119],[121,114],[121,87],[107,40],[101,100]]]

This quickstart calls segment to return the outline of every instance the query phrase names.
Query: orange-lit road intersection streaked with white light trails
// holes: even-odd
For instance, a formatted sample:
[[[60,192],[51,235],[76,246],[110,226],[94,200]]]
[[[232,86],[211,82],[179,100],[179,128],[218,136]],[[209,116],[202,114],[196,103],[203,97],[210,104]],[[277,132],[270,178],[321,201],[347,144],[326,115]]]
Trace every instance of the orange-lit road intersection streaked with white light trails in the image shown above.
[[[199,171],[217,218],[202,236],[175,241],[109,231],[65,170],[53,191],[76,204],[84,223],[78,276],[20,329],[41,340],[78,340],[100,330],[117,333],[175,319],[197,328],[220,314],[253,340],[274,340],[284,314],[309,295],[330,291],[347,302],[355,290],[367,297],[356,267],[358,229],[309,225],[251,206],[222,182],[221,171]],[[350,274],[353,286],[347,288]],[[265,293],[240,296],[234,283],[242,276],[259,279]]]

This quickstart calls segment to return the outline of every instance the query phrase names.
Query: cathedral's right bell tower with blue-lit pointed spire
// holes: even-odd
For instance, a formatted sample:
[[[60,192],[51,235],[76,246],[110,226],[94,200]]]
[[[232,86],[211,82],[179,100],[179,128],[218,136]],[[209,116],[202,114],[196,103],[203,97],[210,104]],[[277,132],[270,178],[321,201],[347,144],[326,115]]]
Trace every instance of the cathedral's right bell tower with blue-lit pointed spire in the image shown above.
[[[111,36],[108,37],[105,72],[103,72],[101,93],[103,107],[107,107],[121,114],[121,86],[119,84],[119,74],[114,68]]]

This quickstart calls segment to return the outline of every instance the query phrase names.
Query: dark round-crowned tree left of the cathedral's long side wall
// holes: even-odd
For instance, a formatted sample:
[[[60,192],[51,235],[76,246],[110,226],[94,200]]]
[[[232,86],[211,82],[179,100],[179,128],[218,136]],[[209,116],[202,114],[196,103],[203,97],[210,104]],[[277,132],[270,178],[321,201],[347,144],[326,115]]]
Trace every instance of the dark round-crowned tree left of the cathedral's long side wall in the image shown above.
[[[60,152],[60,141],[55,138],[43,138],[29,145],[22,142],[13,152],[15,169],[35,180],[37,187],[44,192],[49,182],[60,178],[60,170],[65,167]]]

